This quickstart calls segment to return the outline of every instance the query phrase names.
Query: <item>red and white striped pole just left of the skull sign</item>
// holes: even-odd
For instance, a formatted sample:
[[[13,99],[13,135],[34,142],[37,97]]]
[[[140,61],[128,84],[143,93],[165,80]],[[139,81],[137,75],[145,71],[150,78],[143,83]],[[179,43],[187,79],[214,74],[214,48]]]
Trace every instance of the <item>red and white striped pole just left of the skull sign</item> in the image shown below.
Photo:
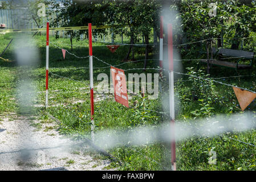
[[[94,69],[92,64],[92,24],[88,23],[89,34],[89,61],[90,61],[90,88],[91,88],[91,138],[94,142]]]

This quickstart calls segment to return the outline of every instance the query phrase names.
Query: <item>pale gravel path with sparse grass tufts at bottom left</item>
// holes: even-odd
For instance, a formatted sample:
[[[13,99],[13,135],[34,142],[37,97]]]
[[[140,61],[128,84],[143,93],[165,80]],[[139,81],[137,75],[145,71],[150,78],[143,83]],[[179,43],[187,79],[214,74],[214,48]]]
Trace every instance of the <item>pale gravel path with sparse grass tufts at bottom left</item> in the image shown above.
[[[107,170],[110,163],[86,144],[60,136],[50,120],[42,122],[15,113],[0,116],[0,171],[99,171]]]

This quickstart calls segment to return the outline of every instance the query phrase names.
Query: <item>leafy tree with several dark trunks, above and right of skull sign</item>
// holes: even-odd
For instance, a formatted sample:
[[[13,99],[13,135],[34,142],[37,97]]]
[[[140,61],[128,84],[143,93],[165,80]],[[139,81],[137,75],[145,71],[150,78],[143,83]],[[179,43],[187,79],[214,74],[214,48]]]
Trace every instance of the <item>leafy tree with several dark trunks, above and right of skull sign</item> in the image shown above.
[[[106,1],[107,2],[107,1]],[[136,35],[143,34],[145,43],[145,59],[148,59],[149,52],[149,34],[152,28],[159,24],[160,3],[156,0],[128,0],[128,1],[110,1],[112,10],[112,20],[117,24],[127,24],[123,29],[124,35],[131,38],[131,44],[136,43]],[[120,32],[120,31],[119,31]],[[132,49],[132,60],[135,59],[133,46],[131,45],[125,60],[128,60]],[[145,61],[147,63],[147,61]],[[146,65],[146,64],[145,64]]]

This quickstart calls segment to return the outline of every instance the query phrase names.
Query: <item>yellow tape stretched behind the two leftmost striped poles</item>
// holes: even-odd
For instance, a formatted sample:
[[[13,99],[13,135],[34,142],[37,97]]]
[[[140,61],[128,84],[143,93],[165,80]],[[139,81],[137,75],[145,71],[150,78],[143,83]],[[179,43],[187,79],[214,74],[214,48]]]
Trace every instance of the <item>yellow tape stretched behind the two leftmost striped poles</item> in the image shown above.
[[[104,28],[111,28],[114,26],[120,26],[120,25],[106,25],[106,26],[92,26],[92,29],[104,29]],[[88,30],[88,26],[83,27],[57,27],[57,28],[49,28],[49,31],[62,31],[62,30]],[[31,29],[2,29],[0,30],[0,34],[5,33],[12,33],[12,32],[39,32],[39,31],[46,31],[46,28],[31,28]]]

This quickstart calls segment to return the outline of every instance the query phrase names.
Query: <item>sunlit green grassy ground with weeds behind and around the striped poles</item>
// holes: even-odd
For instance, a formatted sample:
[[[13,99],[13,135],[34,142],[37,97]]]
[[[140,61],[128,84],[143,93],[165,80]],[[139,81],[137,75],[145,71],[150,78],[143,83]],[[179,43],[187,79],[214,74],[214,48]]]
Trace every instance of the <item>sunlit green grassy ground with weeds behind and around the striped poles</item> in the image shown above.
[[[0,36],[2,51],[9,43],[14,35],[6,34]],[[19,108],[17,85],[22,83],[22,77],[27,75],[36,88],[36,100],[34,105],[33,115],[38,115],[42,122],[50,119],[45,114],[44,109],[44,90],[45,90],[45,37],[35,36],[36,47],[39,51],[39,65],[35,68],[24,72],[17,63],[7,63],[0,60],[0,113],[2,115],[10,112],[22,113]],[[50,42],[54,42],[59,47],[67,49],[69,52],[77,56],[87,56],[88,47],[74,47],[71,51],[69,39],[60,38],[55,40],[51,37]],[[52,43],[50,43],[52,45]],[[88,45],[87,40],[74,41],[74,45]],[[111,64],[121,64],[125,54],[128,51],[128,46],[121,46],[115,53],[111,53],[103,43],[94,43],[94,56]],[[97,47],[96,47],[97,46]],[[155,50],[155,51],[154,51]],[[136,60],[144,59],[144,48],[135,47]],[[201,55],[184,56],[182,59],[198,59]],[[202,55],[204,56],[204,55]],[[7,50],[5,59],[17,60],[15,57],[14,46]],[[149,55],[149,59],[157,59],[157,49]],[[66,59],[63,60],[61,49],[50,46],[50,78],[49,89],[50,99],[47,111],[54,115],[55,118],[61,121],[59,132],[63,135],[74,135],[75,139],[83,139],[84,136],[90,137],[90,80],[89,69],[61,69],[61,68],[80,68],[88,67],[88,58],[78,59],[66,53]],[[119,68],[143,68],[143,61],[136,63],[123,64]],[[107,65],[94,60],[94,67],[106,67]],[[148,61],[148,68],[156,68],[159,66],[157,61]],[[191,75],[205,77],[205,65],[195,64],[194,62],[184,61],[184,68],[190,68],[187,71]],[[193,68],[192,68],[193,67]],[[240,78],[222,78],[221,82],[226,84],[241,86],[250,90],[255,88],[255,65],[250,77]],[[200,72],[200,70],[203,70]],[[135,71],[133,71],[135,73]],[[194,73],[197,72],[197,73]],[[200,73],[199,73],[200,72]],[[54,73],[55,75],[53,75]],[[94,70],[94,85],[100,81],[97,80],[99,73],[109,75],[109,68],[100,68]],[[131,72],[132,73],[132,72]],[[136,73],[143,73],[142,70]],[[154,70],[147,70],[146,73],[157,73]],[[241,75],[249,75],[248,72],[239,72]],[[211,77],[226,77],[236,76],[237,73],[233,69],[225,69],[214,67],[211,69]],[[62,77],[59,77],[62,76]],[[67,78],[64,78],[67,77]],[[70,79],[68,79],[70,78]],[[214,117],[218,114],[225,114],[227,117],[235,113],[242,113],[239,109],[238,101],[235,98],[233,89],[226,85],[208,81],[198,81],[194,78],[184,77],[183,80],[175,83],[175,94],[178,98],[179,107],[176,109],[176,122],[197,123],[200,118]],[[95,125],[96,131],[105,129],[118,129],[127,131],[135,126],[156,126],[164,121],[168,121],[168,117],[159,113],[144,110],[165,111],[168,105],[162,106],[162,96],[168,98],[168,80],[164,79],[164,92],[160,94],[157,100],[148,100],[141,96],[132,96],[129,105],[133,105],[134,101],[139,102],[137,109],[127,109],[113,100],[111,94],[106,94],[104,100],[95,102]],[[198,96],[198,100],[192,100],[192,91]],[[17,94],[18,93],[18,94]],[[95,98],[101,98],[101,94],[95,94]],[[255,101],[252,102],[246,109],[255,116]],[[165,108],[166,107],[166,108]],[[138,110],[139,109],[139,110]],[[238,139],[243,142],[256,144],[256,132],[250,130],[246,132],[237,131],[224,133],[217,137],[192,137],[182,140],[177,143],[177,169],[178,170],[255,170],[255,152],[256,148],[247,144],[231,140],[230,138]],[[217,153],[217,163],[212,165],[208,163],[209,151],[214,150]],[[166,142],[158,142],[148,144],[146,146],[131,146],[127,143],[126,146],[118,146],[108,150],[110,154],[119,159],[123,166],[117,163],[111,163],[109,168],[118,168],[120,170],[166,170],[170,169],[170,144]]]

